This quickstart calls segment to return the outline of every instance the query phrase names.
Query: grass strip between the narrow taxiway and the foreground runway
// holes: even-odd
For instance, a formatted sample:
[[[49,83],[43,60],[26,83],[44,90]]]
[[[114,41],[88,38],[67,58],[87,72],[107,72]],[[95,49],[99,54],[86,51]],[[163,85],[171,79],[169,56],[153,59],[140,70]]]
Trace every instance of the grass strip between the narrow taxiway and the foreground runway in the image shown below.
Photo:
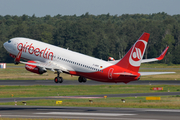
[[[160,96],[161,100],[146,100],[146,97],[117,97],[92,99],[61,99],[62,104],[56,104],[57,100],[30,100],[28,106],[74,106],[74,107],[115,107],[115,108],[161,108],[180,109],[180,96]],[[125,103],[121,101],[125,99]],[[0,103],[0,105],[14,105],[14,102]],[[17,102],[17,105],[24,105]]]

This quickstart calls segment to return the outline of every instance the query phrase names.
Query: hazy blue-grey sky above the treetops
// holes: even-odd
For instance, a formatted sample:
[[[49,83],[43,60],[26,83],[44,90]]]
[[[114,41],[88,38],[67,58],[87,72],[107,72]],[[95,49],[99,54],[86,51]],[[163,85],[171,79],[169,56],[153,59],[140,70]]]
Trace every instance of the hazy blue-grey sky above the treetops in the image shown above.
[[[0,15],[180,14],[180,0],[0,0]]]

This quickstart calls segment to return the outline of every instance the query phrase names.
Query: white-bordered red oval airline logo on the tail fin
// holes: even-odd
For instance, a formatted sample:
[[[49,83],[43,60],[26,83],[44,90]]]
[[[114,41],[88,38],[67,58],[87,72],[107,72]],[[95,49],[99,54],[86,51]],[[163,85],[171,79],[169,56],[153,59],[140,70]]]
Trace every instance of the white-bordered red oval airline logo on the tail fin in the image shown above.
[[[131,54],[129,56],[129,63],[134,66],[138,67],[141,64],[141,59],[143,57],[144,51],[146,49],[147,42],[144,40],[138,40],[132,50]]]

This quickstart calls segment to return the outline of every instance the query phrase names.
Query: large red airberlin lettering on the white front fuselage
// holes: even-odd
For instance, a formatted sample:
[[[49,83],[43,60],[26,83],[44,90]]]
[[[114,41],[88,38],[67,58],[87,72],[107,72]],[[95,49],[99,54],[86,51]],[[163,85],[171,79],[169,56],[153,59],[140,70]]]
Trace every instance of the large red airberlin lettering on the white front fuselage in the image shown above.
[[[53,60],[53,52],[49,52],[50,49],[45,48],[40,50],[40,48],[34,48],[33,43],[31,43],[30,45],[27,45],[28,42],[26,42],[26,44],[23,45],[23,43],[19,43],[17,45],[17,49],[19,51],[22,50],[22,52],[28,52],[29,54],[34,54],[35,56],[39,56],[39,57],[44,57],[46,59],[49,59],[49,57],[51,57],[51,60]]]

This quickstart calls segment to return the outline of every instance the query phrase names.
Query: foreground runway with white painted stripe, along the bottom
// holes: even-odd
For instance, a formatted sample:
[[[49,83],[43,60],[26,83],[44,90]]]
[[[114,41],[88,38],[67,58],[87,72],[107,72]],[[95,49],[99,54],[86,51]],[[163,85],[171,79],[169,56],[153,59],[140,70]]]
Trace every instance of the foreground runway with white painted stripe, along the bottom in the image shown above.
[[[180,110],[61,106],[0,106],[2,118],[64,118],[91,120],[179,120]]]

